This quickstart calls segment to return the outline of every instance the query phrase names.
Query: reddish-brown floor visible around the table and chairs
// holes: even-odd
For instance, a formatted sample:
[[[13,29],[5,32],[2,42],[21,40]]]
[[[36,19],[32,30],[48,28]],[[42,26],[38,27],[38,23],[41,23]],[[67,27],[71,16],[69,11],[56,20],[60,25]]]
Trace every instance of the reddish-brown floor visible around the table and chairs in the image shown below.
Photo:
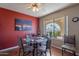
[[[18,56],[18,51],[19,51],[18,49],[15,49],[12,51],[8,51],[7,53],[0,54],[0,56]],[[68,52],[65,52],[64,55],[65,56],[72,56],[72,54],[68,53]],[[31,54],[29,54],[29,56],[31,56]],[[50,54],[48,52],[47,52],[47,56],[50,56]],[[52,56],[62,56],[62,51],[57,48],[52,48]]]

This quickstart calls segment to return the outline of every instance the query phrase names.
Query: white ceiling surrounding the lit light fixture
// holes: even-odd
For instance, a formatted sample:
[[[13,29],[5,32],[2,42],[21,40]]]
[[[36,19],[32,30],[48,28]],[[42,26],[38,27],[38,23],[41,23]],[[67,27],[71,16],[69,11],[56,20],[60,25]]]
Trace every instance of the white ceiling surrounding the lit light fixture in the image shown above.
[[[72,3],[41,3],[40,10],[38,12],[33,12],[28,8],[28,4],[29,3],[0,3],[0,7],[35,17],[42,17],[73,5]]]

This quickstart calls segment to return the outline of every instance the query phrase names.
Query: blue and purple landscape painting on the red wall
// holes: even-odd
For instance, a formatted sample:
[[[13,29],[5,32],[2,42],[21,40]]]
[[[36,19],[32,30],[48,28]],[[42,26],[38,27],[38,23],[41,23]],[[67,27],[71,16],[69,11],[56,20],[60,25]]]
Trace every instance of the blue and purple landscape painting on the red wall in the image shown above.
[[[32,31],[32,21],[15,19],[15,30],[16,31]]]

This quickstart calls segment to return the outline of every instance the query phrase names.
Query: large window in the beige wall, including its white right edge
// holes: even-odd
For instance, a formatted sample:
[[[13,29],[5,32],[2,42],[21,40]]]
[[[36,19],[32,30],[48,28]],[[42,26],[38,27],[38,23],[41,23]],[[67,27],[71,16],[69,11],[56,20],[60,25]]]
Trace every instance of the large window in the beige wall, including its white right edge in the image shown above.
[[[54,18],[53,20],[45,20],[44,33],[49,37],[62,38],[63,35],[68,35],[68,16]]]

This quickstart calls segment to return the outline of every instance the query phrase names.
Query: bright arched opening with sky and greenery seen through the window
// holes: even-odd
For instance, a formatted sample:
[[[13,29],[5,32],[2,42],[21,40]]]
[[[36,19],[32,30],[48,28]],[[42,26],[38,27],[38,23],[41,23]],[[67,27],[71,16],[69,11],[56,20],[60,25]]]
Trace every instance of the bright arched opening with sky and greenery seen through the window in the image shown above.
[[[54,36],[54,37],[60,36],[60,31],[61,28],[57,23],[48,23],[46,25],[46,33],[49,36]]]

